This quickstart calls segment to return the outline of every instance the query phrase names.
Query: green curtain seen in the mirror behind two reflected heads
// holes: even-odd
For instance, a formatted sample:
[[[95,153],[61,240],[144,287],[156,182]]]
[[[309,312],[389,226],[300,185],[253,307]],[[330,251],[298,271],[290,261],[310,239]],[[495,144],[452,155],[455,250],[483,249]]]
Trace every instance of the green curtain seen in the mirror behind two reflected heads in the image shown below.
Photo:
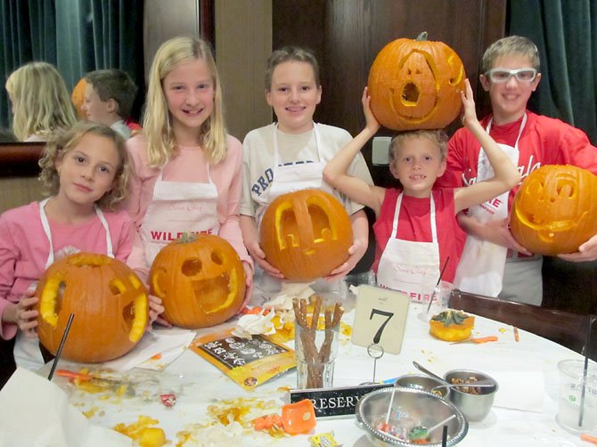
[[[2,0],[0,29],[3,82],[29,61],[47,61],[70,89],[87,71],[123,69],[144,92],[143,0]],[[11,117],[3,84],[0,126],[10,126]]]

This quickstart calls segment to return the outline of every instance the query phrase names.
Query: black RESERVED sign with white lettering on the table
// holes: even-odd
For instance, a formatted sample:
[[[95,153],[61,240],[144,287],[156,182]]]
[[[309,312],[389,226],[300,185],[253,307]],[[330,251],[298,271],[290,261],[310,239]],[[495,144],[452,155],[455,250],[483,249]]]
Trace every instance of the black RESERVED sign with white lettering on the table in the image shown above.
[[[306,390],[290,390],[290,403],[309,399],[315,407],[317,418],[339,418],[355,416],[356,402],[364,396],[380,388],[388,388],[394,384],[372,384],[346,386],[342,388],[311,388]]]

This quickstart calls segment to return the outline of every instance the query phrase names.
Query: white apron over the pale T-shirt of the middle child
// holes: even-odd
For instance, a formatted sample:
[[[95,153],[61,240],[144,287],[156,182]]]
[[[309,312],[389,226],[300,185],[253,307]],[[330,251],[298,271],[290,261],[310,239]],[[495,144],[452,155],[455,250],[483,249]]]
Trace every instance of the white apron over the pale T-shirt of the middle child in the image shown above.
[[[313,123],[313,132],[315,134],[315,145],[317,147],[317,156],[319,161],[314,163],[292,164],[288,166],[280,165],[280,150],[278,148],[278,126],[274,126],[274,180],[269,187],[259,197],[259,207],[256,215],[258,228],[261,225],[261,219],[266,212],[267,206],[276,198],[287,192],[315,189],[329,192],[333,195],[328,183],[323,182],[323,168],[325,160],[323,159],[321,137],[317,124]],[[256,268],[258,266],[256,265]],[[258,268],[258,288],[266,293],[274,293],[281,289],[282,281],[274,278]],[[339,291],[339,280],[332,283],[326,280],[317,280],[316,291]]]

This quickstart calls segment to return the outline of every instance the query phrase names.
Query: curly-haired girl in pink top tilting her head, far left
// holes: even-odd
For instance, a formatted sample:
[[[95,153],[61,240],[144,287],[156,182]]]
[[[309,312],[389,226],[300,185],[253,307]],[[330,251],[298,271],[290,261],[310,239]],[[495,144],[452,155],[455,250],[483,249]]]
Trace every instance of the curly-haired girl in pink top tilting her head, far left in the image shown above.
[[[79,122],[54,135],[39,165],[51,196],[0,215],[0,335],[17,335],[15,361],[29,369],[44,364],[31,286],[54,259],[77,251],[125,262],[134,236],[127,213],[114,211],[127,193],[129,167],[124,142],[110,127]],[[163,308],[155,301],[152,307],[155,319]]]

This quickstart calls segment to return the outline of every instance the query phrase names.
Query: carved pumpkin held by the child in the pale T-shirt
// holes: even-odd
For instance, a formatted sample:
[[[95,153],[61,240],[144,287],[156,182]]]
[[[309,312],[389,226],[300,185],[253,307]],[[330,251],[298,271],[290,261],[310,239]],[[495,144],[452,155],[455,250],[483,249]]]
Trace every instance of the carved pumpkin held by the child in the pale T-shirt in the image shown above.
[[[339,200],[327,192],[282,194],[267,207],[259,230],[266,260],[287,280],[327,276],[348,259],[353,234]]]

